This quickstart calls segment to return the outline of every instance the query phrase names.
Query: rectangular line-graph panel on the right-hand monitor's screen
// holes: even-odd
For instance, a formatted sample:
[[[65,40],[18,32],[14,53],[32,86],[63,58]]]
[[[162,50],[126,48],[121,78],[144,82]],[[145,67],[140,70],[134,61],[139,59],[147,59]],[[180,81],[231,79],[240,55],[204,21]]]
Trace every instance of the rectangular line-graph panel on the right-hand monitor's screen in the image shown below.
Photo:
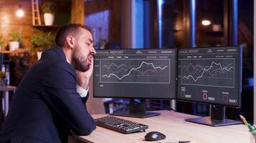
[[[234,87],[234,59],[182,59],[181,84]]]

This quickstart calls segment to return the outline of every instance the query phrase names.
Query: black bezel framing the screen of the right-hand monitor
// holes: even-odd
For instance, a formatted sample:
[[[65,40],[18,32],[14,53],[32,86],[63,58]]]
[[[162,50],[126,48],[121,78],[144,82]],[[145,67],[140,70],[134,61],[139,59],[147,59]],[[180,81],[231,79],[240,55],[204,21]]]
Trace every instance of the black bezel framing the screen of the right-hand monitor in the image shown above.
[[[225,107],[232,107],[232,108],[241,108],[241,100],[242,100],[242,45],[239,46],[201,46],[201,47],[191,47],[191,48],[182,48],[182,49],[178,49],[177,50],[177,66],[178,66],[178,56],[179,56],[179,51],[180,50],[186,50],[186,49],[210,49],[210,48],[228,48],[228,47],[234,47],[239,49],[239,97],[238,97],[238,104],[237,105],[230,105],[230,104],[220,104],[220,103],[213,103],[213,102],[201,102],[201,101],[194,101],[194,100],[189,100],[189,99],[180,99],[178,98],[178,68],[176,71],[176,76],[177,76],[177,80],[176,80],[176,97],[175,99],[177,101],[180,102],[190,102],[190,103],[201,103],[201,104],[214,104],[214,105],[221,105],[221,106],[225,106]]]

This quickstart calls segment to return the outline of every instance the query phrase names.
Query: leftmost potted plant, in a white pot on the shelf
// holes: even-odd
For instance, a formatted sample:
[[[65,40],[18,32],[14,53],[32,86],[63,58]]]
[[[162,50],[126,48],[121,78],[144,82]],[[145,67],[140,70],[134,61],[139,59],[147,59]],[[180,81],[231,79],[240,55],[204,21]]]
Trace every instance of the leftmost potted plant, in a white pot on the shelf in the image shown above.
[[[11,36],[11,39],[9,41],[9,50],[14,51],[19,48],[19,44],[23,43],[22,34],[17,31],[12,31],[12,33],[9,35]]]

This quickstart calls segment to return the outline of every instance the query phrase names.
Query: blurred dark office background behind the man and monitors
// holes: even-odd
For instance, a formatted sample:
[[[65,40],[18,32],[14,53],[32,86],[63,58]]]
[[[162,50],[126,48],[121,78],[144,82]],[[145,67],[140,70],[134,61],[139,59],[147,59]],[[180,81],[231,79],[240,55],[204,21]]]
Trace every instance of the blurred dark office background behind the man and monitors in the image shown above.
[[[51,24],[46,24],[43,15],[47,3],[52,4],[48,10],[54,12]],[[56,31],[69,23],[90,26],[96,50],[178,51],[242,46],[241,107],[226,106],[225,118],[241,121],[239,114],[242,114],[247,122],[254,124],[254,3],[253,0],[1,0],[1,74],[4,76],[0,74],[0,129],[9,108],[6,109],[6,104],[12,104],[15,88],[40,59],[38,52],[54,46]],[[22,12],[18,14],[20,9]],[[11,47],[13,39],[19,41],[16,48]],[[12,88],[8,89],[9,86]],[[168,110],[200,117],[208,117],[215,106],[209,102],[175,99],[176,95],[173,99],[94,97],[93,80],[89,87],[91,95],[86,108],[90,114],[128,111],[132,100],[134,104],[145,102],[147,111]]]

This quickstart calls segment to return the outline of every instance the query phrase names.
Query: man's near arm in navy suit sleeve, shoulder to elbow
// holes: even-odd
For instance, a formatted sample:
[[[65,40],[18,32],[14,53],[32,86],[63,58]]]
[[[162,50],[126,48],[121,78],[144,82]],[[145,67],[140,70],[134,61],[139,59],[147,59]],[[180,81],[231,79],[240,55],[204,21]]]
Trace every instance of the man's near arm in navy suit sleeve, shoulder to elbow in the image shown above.
[[[88,135],[96,129],[93,118],[76,92],[75,71],[68,64],[58,63],[49,68],[42,84],[45,89],[43,97],[68,122],[73,132]]]

